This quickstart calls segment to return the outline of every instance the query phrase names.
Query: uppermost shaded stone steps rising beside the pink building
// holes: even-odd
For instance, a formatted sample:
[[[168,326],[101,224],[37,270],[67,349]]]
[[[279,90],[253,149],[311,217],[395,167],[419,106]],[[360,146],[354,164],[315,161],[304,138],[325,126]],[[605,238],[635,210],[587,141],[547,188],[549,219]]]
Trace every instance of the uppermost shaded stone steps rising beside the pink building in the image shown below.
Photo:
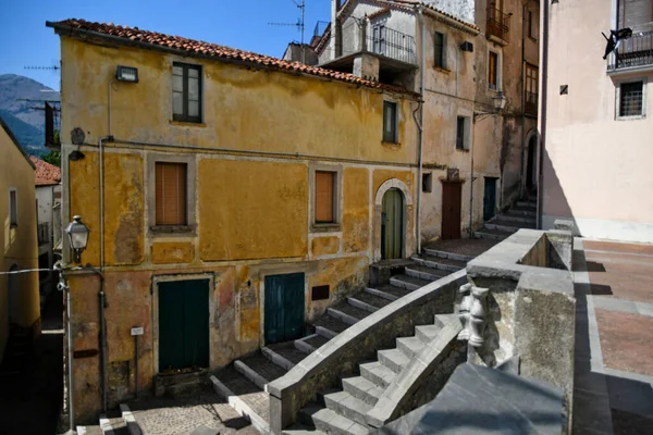
[[[479,231],[473,232],[476,238],[503,240],[521,228],[537,227],[537,197],[529,195],[503,213],[497,214]]]

